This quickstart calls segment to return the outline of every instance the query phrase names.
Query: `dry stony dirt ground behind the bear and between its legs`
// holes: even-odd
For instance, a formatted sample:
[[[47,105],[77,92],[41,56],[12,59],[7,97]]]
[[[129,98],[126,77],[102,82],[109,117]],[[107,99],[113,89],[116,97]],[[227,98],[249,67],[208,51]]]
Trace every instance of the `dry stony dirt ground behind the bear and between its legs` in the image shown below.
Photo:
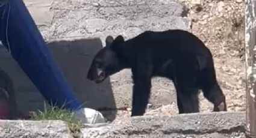
[[[217,80],[228,111],[245,111],[244,1],[180,0],[189,9],[192,32],[211,50]],[[201,112],[213,106],[200,94]],[[131,109],[117,111],[116,119],[130,116]],[[145,115],[170,116],[178,113],[176,103],[149,107]]]

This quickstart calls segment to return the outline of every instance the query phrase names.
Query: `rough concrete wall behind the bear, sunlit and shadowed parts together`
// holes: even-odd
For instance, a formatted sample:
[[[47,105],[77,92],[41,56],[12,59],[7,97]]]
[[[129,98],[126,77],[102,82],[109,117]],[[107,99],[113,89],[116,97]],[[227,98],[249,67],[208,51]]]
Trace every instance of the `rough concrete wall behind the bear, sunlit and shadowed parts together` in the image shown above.
[[[33,5],[30,7],[33,9]],[[48,18],[44,21],[35,17],[40,15],[33,14],[33,17],[40,19],[39,29],[49,42],[49,47],[76,97],[86,105],[85,107],[93,109],[130,107],[131,71],[120,71],[100,85],[90,82],[86,79],[86,74],[95,52],[102,45],[99,41],[92,43],[83,39],[100,38],[104,46],[107,35],[116,37],[121,34],[128,39],[146,30],[189,30],[186,8],[174,0],[55,0],[50,9],[54,12],[51,25],[43,25],[49,23]],[[82,40],[78,40],[80,38]],[[17,98],[19,109],[43,109],[42,95],[27,75],[7,50],[1,48],[0,52],[1,68],[13,79],[16,97],[22,97]],[[174,91],[169,80],[158,77],[153,79],[152,106],[176,101]]]

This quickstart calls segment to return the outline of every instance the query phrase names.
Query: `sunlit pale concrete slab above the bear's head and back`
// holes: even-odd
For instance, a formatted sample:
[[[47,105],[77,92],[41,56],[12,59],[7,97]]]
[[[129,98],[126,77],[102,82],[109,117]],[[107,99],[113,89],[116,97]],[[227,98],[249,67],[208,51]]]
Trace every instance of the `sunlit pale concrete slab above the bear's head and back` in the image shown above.
[[[146,30],[189,29],[186,10],[174,0],[154,1],[54,1],[54,20],[41,28],[46,40],[122,34],[131,38]],[[102,42],[105,46],[105,42]]]

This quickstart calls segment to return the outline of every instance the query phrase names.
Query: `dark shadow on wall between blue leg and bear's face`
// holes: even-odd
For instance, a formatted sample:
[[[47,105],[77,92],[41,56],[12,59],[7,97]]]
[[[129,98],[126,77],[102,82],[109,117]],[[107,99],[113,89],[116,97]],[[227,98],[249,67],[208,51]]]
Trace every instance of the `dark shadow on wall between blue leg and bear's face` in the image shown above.
[[[75,96],[83,102],[84,107],[92,109],[116,109],[110,78],[101,84],[86,79],[96,52],[102,49],[99,38],[81,40],[61,40],[48,44],[60,65],[67,81],[75,91]],[[115,113],[111,117],[115,118]]]

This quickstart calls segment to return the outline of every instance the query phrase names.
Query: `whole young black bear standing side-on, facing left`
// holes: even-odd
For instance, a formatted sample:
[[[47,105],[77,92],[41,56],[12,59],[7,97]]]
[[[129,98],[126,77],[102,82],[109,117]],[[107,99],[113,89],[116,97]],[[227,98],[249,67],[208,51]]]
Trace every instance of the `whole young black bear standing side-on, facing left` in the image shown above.
[[[133,74],[131,116],[142,116],[151,93],[151,78],[166,77],[175,85],[179,113],[199,112],[199,89],[226,111],[225,95],[216,80],[210,50],[190,32],[180,29],[145,31],[129,40],[108,36],[106,46],[93,58],[87,79],[101,83],[124,68]]]

